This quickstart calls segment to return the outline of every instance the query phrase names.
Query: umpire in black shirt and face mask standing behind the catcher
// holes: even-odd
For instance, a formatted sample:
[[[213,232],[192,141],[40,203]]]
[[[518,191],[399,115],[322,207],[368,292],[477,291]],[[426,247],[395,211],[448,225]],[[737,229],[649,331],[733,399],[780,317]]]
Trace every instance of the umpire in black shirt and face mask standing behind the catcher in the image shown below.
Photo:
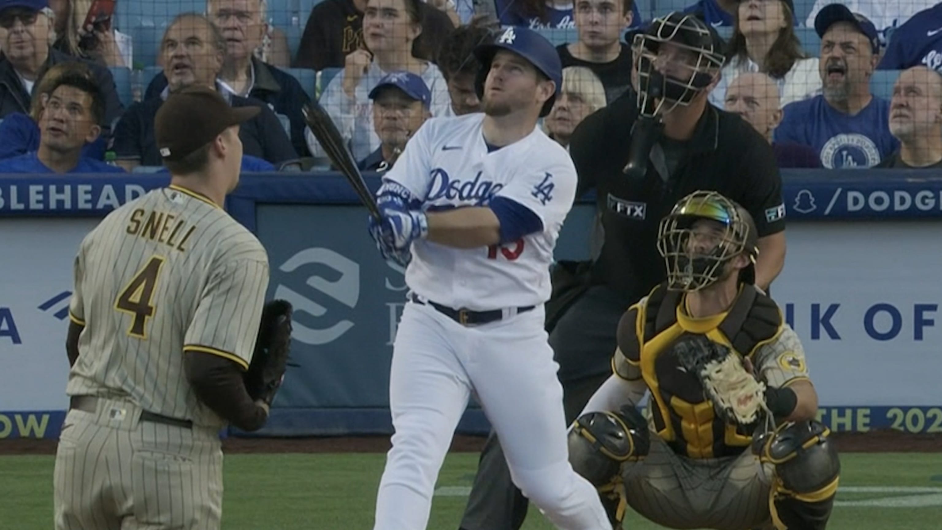
[[[782,270],[785,206],[771,147],[739,116],[707,104],[723,67],[721,42],[693,15],[656,19],[633,42],[635,91],[591,114],[573,133],[577,197],[595,189],[605,240],[592,263],[557,264],[546,305],[567,422],[611,374],[622,314],[664,281],[658,222],[682,197],[715,190],[737,201],[758,224],[756,285],[768,290]],[[480,457],[479,470],[487,472],[475,479],[465,530],[523,524],[526,499],[512,488],[510,473],[498,471],[506,469],[502,462],[492,435]]]

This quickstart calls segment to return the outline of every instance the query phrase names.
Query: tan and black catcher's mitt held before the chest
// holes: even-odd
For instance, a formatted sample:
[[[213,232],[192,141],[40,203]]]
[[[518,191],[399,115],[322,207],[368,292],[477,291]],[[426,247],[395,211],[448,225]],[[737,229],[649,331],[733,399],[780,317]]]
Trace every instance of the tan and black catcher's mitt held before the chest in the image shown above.
[[[755,423],[765,404],[765,384],[746,372],[739,354],[723,344],[693,335],[674,345],[681,365],[700,379],[717,416],[739,425]]]

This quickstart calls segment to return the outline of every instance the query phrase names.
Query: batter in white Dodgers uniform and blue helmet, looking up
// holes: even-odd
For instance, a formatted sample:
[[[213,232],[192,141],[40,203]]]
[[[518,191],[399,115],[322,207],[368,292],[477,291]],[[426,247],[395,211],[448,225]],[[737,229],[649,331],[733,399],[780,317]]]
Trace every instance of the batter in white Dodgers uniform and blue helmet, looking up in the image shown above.
[[[558,365],[546,342],[549,265],[576,171],[536,128],[560,87],[549,41],[509,28],[476,48],[482,114],[433,118],[383,176],[383,256],[410,288],[390,373],[393,448],[375,530],[423,530],[471,392],[504,443],[513,482],[556,526],[609,527],[567,459]],[[411,262],[410,262],[411,257]]]

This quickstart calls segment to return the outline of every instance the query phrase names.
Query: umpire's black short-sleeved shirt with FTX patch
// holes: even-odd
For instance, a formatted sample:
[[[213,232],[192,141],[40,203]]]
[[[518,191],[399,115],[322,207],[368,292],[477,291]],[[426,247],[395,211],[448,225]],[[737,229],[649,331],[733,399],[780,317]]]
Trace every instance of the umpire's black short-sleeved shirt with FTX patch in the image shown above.
[[[569,146],[579,178],[577,196],[594,188],[602,211],[605,242],[593,267],[593,283],[608,285],[632,304],[666,279],[657,248],[658,224],[695,190],[719,191],[745,207],[760,238],[785,229],[775,155],[750,124],[707,105],[692,138],[662,137],[648,159],[647,173],[632,181],[623,169],[637,118],[635,96],[627,91],[579,124]]]

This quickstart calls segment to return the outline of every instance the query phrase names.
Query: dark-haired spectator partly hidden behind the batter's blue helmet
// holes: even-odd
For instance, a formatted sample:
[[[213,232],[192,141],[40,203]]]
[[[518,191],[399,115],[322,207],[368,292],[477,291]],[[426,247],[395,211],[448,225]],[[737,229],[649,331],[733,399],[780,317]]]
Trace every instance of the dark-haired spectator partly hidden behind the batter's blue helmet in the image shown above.
[[[483,17],[472,20],[471,24],[452,31],[438,50],[435,64],[445,77],[451,100],[444,116],[463,116],[480,112],[480,99],[474,87],[480,61],[474,55],[474,48],[494,41],[489,24],[489,19]]]

